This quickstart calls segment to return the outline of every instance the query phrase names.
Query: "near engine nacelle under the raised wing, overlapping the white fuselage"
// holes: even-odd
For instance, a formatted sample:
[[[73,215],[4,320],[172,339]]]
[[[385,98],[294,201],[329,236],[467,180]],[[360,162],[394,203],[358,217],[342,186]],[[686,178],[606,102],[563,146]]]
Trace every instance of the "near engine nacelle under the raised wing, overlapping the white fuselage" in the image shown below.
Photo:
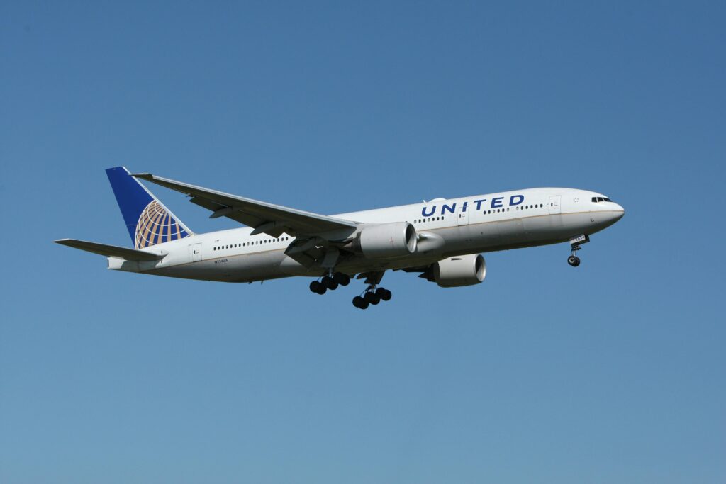
[[[393,258],[416,252],[416,229],[408,222],[364,226],[353,246],[370,259]]]

